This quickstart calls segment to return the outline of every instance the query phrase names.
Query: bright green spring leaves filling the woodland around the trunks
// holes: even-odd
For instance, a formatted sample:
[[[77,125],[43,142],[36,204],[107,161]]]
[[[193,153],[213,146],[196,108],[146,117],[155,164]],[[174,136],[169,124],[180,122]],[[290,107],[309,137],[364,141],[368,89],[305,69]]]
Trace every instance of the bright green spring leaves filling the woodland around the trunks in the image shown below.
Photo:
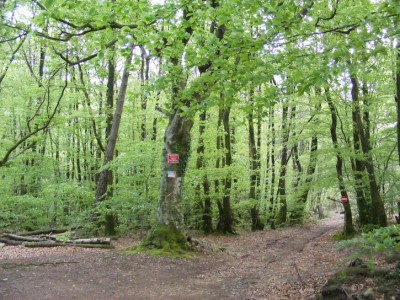
[[[351,164],[365,159],[352,145],[349,71],[368,90],[360,94],[365,119],[369,113],[365,128],[370,128],[372,160],[386,207],[395,210],[400,179],[393,126],[397,121],[396,1],[318,1],[312,7],[303,6],[308,1],[217,1],[219,7],[210,2],[165,2],[44,0],[40,5],[45,9],[39,2],[5,2],[4,18],[0,12],[5,23],[0,26],[0,159],[8,150],[11,155],[0,167],[1,227],[84,224],[94,229],[90,220],[96,176],[108,169],[114,178],[107,201],[96,208],[98,213],[117,215],[119,232],[151,228],[162,174],[163,133],[175,106],[184,111],[182,116],[196,120],[189,159],[181,161],[181,167],[187,166],[182,206],[188,228],[202,226],[205,195],[198,187],[205,176],[210,182],[214,224],[217,202],[223,197],[221,187],[229,174],[233,185],[227,192],[236,225],[248,228],[249,210],[255,206],[262,219],[274,219],[274,209],[282,205],[277,197],[281,164],[286,164],[288,215],[295,217],[304,207],[311,211],[315,195],[320,197],[318,203],[334,208],[326,200],[338,194],[337,150],[329,136],[331,116],[325,101],[328,90],[339,120],[338,150],[351,194],[356,187]],[[216,33],[222,31],[220,39]],[[133,37],[138,47],[118,155],[100,167],[104,159],[100,146],[106,144],[107,120],[113,113],[106,104],[108,65],[113,60],[117,66],[116,86],[126,45]],[[71,65],[63,57],[86,60]],[[201,76],[199,67],[207,68]],[[65,81],[68,86],[61,94]],[[225,136],[217,124],[222,106],[231,107],[233,163],[229,167],[224,166],[223,142],[217,146],[217,139]],[[292,114],[287,124],[282,124],[283,106]],[[47,128],[29,136],[46,124],[53,109]],[[203,110],[207,111],[204,165],[198,169],[197,115]],[[253,110],[260,119],[257,199],[249,199],[248,115]],[[282,162],[282,135],[287,130],[290,158]],[[313,135],[318,136],[317,170],[306,183]],[[302,169],[294,161],[295,147]],[[367,186],[363,185],[363,192],[368,198]],[[306,188],[309,200],[302,207],[298,199]],[[352,205],[355,209],[355,201]],[[382,241],[384,246],[388,243]]]

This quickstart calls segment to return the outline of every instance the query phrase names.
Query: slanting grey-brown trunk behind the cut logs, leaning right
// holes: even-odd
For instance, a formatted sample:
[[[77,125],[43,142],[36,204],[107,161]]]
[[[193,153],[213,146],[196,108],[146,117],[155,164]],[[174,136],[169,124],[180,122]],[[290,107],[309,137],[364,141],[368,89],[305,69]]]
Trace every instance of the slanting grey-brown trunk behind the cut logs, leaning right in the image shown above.
[[[132,56],[133,56],[133,47],[131,49],[131,53],[129,54],[129,57],[127,58],[127,60],[125,62],[125,67],[124,67],[124,71],[123,71],[123,75],[122,75],[122,79],[121,79],[121,87],[120,87],[119,94],[118,94],[118,101],[117,101],[117,105],[115,108],[114,117],[112,120],[112,126],[111,126],[110,133],[109,133],[108,140],[107,140],[107,148],[106,148],[106,153],[104,155],[103,166],[106,166],[114,159],[114,152],[115,152],[115,147],[117,144],[119,125],[121,123],[122,110],[124,107],[126,90],[128,88],[129,68],[132,63]],[[97,205],[100,202],[106,200],[107,190],[108,190],[108,186],[109,186],[111,180],[112,180],[112,173],[110,170],[105,168],[103,171],[101,171],[99,180],[97,183],[97,189],[96,189],[96,204]],[[96,212],[95,219],[98,219],[98,217],[99,217],[98,212]],[[116,224],[115,224],[115,217],[112,213],[106,213],[104,225],[105,225],[105,233],[106,234],[111,234],[111,235],[115,234],[115,225]]]

